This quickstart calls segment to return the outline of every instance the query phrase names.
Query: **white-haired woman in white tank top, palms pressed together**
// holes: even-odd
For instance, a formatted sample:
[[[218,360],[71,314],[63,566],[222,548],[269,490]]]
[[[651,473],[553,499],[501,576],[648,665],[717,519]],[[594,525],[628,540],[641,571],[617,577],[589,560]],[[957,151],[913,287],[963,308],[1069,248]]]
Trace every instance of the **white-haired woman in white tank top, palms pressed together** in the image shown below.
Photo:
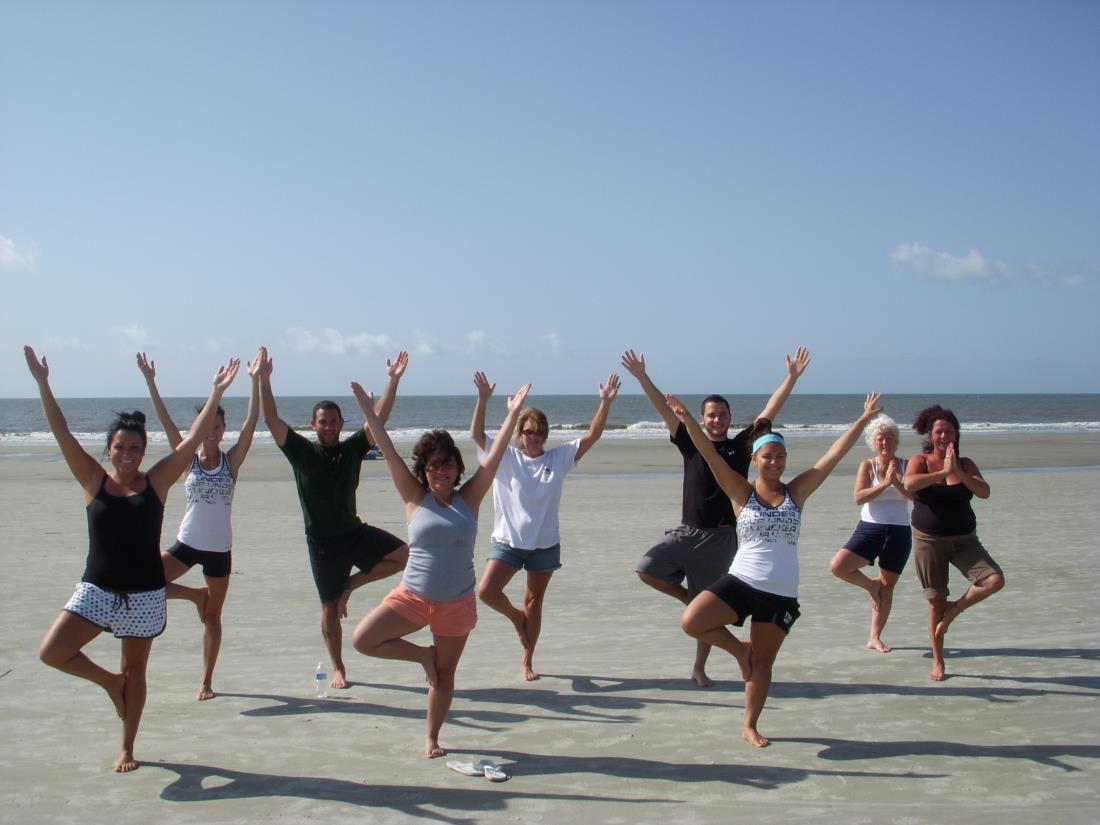
[[[890,618],[893,588],[901,576],[913,546],[905,492],[905,460],[899,459],[898,424],[890,416],[879,416],[867,425],[865,441],[875,455],[859,463],[856,472],[856,504],[861,505],[859,524],[847,543],[836,551],[829,570],[849,584],[862,587],[871,597],[871,636],[868,650],[889,653],[882,629]],[[879,561],[879,574],[869,578],[860,568]]]

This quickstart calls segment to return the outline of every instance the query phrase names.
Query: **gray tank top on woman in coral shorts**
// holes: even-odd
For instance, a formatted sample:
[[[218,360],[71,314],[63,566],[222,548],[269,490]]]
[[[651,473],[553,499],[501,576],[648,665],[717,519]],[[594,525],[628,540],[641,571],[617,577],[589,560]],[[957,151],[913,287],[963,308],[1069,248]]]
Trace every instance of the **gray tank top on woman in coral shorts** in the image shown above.
[[[430,492],[409,521],[405,586],[429,602],[450,602],[474,592],[477,519],[455,492],[450,507]]]

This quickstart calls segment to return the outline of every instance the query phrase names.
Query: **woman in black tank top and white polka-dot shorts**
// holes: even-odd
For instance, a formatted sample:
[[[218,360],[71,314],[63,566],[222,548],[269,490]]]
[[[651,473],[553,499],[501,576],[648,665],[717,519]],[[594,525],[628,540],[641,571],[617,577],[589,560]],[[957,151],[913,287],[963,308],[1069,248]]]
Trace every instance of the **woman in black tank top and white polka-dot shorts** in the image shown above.
[[[184,473],[202,436],[213,422],[218,402],[232,383],[240,362],[235,359],[218,370],[213,389],[188,437],[161,459],[147,473],[141,471],[145,457],[145,416],[120,414],[107,437],[110,471],[88,453],[69,431],[53,391],[50,366],[30,346],[23,348],[26,365],[38,385],[42,409],[73,477],[84,488],[88,510],[89,551],[84,580],[65,610],[57,616],[38,646],[42,661],[102,688],[122,719],[122,748],[114,770],[132,771],[134,739],[145,706],[145,668],[160,629],[145,631],[143,616],[130,615],[145,605],[164,603],[164,569],[160,540],[164,501],[168,488]],[[157,570],[160,568],[160,570]],[[105,606],[108,605],[108,606]],[[122,616],[120,626],[107,627],[100,616]],[[92,620],[90,616],[95,616]],[[124,623],[124,627],[122,627]],[[135,627],[140,629],[135,630]],[[121,628],[121,629],[120,629]],[[116,673],[97,664],[84,647],[105,629],[112,629],[122,642],[122,664]],[[141,635],[135,635],[140,632]]]

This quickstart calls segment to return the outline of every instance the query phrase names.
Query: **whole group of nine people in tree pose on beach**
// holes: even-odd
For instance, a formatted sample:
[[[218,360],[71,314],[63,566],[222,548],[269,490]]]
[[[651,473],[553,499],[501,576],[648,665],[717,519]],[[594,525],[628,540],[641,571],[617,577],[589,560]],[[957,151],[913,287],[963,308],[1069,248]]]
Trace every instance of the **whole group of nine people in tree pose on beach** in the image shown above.
[[[454,675],[470,632],[476,624],[476,601],[504,615],[518,636],[520,674],[532,681],[535,648],[542,607],[553,572],[561,566],[559,506],[565,476],[600,440],[619,391],[615,373],[600,385],[600,403],[587,431],[564,444],[546,448],[549,422],[536,408],[525,408],[530,385],[508,397],[506,416],[495,438],[485,431],[485,413],[495,385],[484,373],[474,375],[477,392],[471,437],[477,466],[466,472],[462,453],[446,430],[426,432],[413,449],[409,466],[395,449],[386,421],[408,365],[408,354],[386,361],[387,384],[375,398],[359,383],[351,388],[364,426],[341,439],[342,411],[331,400],[312,409],[309,440],[278,416],[271,386],[273,362],[261,348],[248,364],[252,391],[240,437],[228,452],[219,406],[240,362],[219,367],[213,386],[186,438],[169,416],[156,388],[155,365],[144,353],[138,365],[172,451],[148,471],[141,471],[146,435],[141,413],[122,414],[107,439],[108,468],[88,453],[69,432],[48,382],[48,364],[24,348],[46,421],[70,471],[85,493],[89,552],[76,593],[42,641],[42,660],[103,688],[122,718],[122,747],[116,770],[133,770],[134,739],[145,701],[145,666],[153,638],[163,632],[166,600],[193,602],[202,622],[202,674],[197,697],[212,698],[213,669],[221,642],[221,609],[232,569],[230,512],[233,488],[252,442],[262,409],[276,446],[289,462],[301,505],[310,566],[321,603],[321,632],[332,661],[332,688],[348,686],[342,657],[342,619],[352,593],[364,584],[403,572],[394,587],[352,634],[354,648],[367,656],[417,662],[428,682],[425,754],[447,751],[439,744],[442,723],[454,695]],[[663,395],[646,372],[645,358],[628,350],[623,369],[630,373],[669,429],[683,457],[682,522],[664,535],[637,565],[647,585],[684,605],[681,626],[695,641],[691,678],[701,688],[714,682],[706,662],[714,646],[733,656],[745,680],[743,736],[757,747],[768,745],[758,721],[771,684],[772,666],[798,619],[798,539],[801,514],[811,494],[868,429],[871,459],[859,465],[856,503],[862,506],[851,539],[833,559],[833,573],[866,590],[870,596],[869,648],[889,652],[882,628],[890,613],[893,587],[910,553],[928,600],[933,680],[945,676],[944,636],[965,609],[1000,590],[1001,570],[975,534],[970,499],[989,496],[977,465],[958,452],[958,420],[938,406],[923,410],[914,429],[928,439],[924,451],[906,462],[895,457],[898,427],[867,397],[848,430],[809,470],[782,481],[787,447],[772,421],[810,363],[799,348],[787,358],[787,373],[754,424],[729,438],[728,402],[704,399],[701,418],[672,395]],[[514,442],[514,443],[513,443]],[[382,449],[387,471],[404,503],[408,539],[363,522],[355,494],[362,460]],[[750,464],[757,475],[748,481]],[[168,490],[187,472],[187,506],[177,541],[160,551],[161,521]],[[495,522],[492,550],[479,582],[474,566],[477,514],[493,491]],[[912,528],[909,502],[914,503]],[[861,568],[879,562],[879,575]],[[200,564],[205,586],[176,582]],[[955,602],[947,600],[948,564],[970,581]],[[526,570],[521,604],[505,588]],[[749,638],[728,629],[751,617]],[[432,644],[406,637],[428,627]],[[82,648],[103,630],[121,639],[121,672],[92,662]]]

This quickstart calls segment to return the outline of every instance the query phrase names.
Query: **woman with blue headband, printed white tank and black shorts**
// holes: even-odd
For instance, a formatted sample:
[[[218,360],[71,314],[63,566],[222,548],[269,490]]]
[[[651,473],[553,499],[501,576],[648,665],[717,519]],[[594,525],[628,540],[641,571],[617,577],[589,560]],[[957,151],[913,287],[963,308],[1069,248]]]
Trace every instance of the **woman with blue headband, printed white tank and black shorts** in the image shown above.
[[[776,656],[799,618],[802,509],[859,439],[867,422],[882,411],[879,397],[878,393],[868,395],[862,415],[848,431],[812,468],[784,484],[781,476],[787,466],[787,444],[782,436],[767,432],[752,442],[757,477],[748,482],[722,460],[680,399],[668,396],[669,407],[688,428],[737,516],[738,549],[729,573],[692,600],[680,624],[688,635],[722,648],[737,660],[745,679],[741,736],[755,747],[769,745],[757,729],[757,722],[768,700]],[[748,641],[726,628],[741,627],[750,616]]]

